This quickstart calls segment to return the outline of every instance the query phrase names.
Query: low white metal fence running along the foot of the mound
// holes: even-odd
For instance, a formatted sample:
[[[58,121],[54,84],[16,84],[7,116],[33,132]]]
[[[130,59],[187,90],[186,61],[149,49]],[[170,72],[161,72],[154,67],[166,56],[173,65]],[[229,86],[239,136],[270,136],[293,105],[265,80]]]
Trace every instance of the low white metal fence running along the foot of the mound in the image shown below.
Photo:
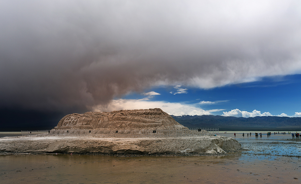
[[[218,135],[218,128],[192,128],[183,130],[137,130],[137,129],[65,129],[65,130],[36,130],[21,131],[24,136],[95,136],[116,138],[140,137],[196,137]]]

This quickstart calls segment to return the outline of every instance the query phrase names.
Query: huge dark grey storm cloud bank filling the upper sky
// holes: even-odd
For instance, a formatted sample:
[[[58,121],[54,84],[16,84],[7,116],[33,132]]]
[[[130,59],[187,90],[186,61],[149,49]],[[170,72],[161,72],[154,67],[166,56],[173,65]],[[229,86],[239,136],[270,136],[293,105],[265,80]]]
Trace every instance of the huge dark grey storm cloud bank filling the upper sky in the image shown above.
[[[1,1],[0,108],[301,73],[300,1]]]

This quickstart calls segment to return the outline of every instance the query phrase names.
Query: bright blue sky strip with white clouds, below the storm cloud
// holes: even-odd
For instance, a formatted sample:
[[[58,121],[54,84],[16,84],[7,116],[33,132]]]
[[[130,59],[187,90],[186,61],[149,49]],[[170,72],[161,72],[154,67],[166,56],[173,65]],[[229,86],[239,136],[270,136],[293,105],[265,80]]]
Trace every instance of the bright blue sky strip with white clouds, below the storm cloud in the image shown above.
[[[300,117],[301,115],[296,114],[301,112],[300,92],[301,75],[298,74],[264,77],[254,82],[210,89],[191,88],[185,85],[159,86],[143,93],[130,93],[115,100],[120,102],[120,106],[128,108],[133,104],[141,108],[155,105],[151,108],[161,108],[174,115]]]

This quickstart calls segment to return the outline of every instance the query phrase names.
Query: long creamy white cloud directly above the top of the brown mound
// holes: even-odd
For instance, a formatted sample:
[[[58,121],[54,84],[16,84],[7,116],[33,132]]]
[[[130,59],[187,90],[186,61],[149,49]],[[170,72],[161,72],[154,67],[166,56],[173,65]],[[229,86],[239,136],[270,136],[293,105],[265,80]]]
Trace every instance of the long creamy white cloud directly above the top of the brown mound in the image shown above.
[[[210,115],[211,112],[218,112],[225,109],[204,110],[196,107],[194,104],[170,103],[165,101],[149,101],[149,100],[111,100],[107,105],[98,105],[93,108],[96,112],[111,112],[122,109],[149,109],[161,108],[164,112],[173,115]]]

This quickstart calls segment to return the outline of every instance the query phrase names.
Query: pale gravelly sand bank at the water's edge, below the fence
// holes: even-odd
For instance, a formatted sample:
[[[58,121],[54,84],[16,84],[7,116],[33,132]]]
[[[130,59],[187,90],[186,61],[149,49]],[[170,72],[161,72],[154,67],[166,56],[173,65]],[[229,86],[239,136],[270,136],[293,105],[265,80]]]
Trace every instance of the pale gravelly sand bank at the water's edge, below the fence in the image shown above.
[[[100,138],[86,136],[41,136],[0,138],[0,151],[78,153],[226,153],[241,148],[224,136],[178,138]]]

